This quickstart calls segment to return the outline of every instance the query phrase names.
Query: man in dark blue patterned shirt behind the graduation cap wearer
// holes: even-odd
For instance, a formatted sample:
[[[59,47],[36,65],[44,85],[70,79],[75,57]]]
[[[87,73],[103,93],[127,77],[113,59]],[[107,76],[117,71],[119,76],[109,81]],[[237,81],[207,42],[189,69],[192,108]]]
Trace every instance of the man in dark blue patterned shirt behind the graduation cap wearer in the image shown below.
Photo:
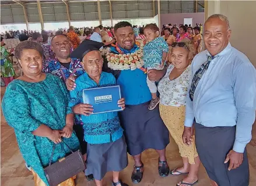
[[[69,58],[71,52],[71,42],[66,35],[59,34],[52,37],[51,49],[55,53],[55,58],[50,59],[47,62],[47,66],[43,69],[45,73],[51,73],[61,78],[62,81],[66,81],[67,78],[73,76],[80,76],[85,71],[80,63],[80,59]],[[83,125],[80,116],[75,117],[75,125],[73,125],[78,140],[80,142],[82,155],[86,160],[87,142],[83,140]],[[87,180],[92,181],[93,175],[86,176]]]

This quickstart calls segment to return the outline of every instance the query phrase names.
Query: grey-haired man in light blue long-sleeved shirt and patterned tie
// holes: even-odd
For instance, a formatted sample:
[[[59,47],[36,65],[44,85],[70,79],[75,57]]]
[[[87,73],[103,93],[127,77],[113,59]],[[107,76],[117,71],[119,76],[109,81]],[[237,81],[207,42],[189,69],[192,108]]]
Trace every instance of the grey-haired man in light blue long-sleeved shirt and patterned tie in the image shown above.
[[[183,141],[190,145],[195,119],[195,142],[209,177],[219,186],[248,186],[246,145],[256,109],[256,70],[230,45],[229,20],[212,15],[206,20],[206,51],[192,61]]]

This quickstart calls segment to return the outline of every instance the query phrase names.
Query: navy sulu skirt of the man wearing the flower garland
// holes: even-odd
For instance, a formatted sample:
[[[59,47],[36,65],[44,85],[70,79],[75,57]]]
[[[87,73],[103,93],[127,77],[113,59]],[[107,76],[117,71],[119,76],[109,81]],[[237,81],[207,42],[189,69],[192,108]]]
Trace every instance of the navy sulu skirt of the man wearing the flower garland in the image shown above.
[[[128,153],[139,155],[146,149],[165,149],[169,144],[169,131],[160,117],[159,106],[148,109],[149,102],[125,105],[120,114]]]

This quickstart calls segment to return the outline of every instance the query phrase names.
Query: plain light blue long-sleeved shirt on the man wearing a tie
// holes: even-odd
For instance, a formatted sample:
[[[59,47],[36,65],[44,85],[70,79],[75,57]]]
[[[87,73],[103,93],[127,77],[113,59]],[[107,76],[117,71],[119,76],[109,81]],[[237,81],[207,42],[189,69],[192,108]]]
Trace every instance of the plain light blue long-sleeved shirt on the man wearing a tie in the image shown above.
[[[192,61],[192,76],[210,55],[198,53]],[[233,150],[243,153],[251,140],[256,109],[256,70],[250,60],[230,44],[213,59],[194,92],[186,99],[185,126],[194,118],[206,127],[236,126]],[[223,141],[224,142],[224,141]]]

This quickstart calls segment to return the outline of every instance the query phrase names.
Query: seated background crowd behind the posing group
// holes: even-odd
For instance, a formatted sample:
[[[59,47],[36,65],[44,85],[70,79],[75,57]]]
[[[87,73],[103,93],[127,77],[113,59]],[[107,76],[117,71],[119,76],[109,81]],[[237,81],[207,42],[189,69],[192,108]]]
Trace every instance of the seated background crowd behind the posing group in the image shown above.
[[[136,37],[136,40],[142,40],[146,41],[146,37],[144,34],[144,28],[145,26],[133,26],[134,34]],[[15,34],[14,34],[15,33]],[[83,27],[83,28],[75,28],[73,26],[69,27],[68,30],[66,28],[59,28],[57,31],[45,31],[42,30],[41,33],[38,31],[6,31],[5,34],[1,33],[1,42],[4,39],[8,38],[19,38],[19,41],[36,41],[38,42],[41,47],[44,49],[44,56],[43,56],[43,65],[45,66],[45,62],[47,63],[50,59],[54,59],[54,52],[51,49],[51,40],[54,35],[58,34],[64,34],[68,37],[69,41],[71,42],[71,51],[78,47],[80,42],[79,36],[85,36],[86,40],[93,40],[97,42],[103,42],[105,47],[109,47],[111,44],[114,44],[115,41],[115,33],[114,33],[114,27],[103,27],[102,25],[94,28],[89,27]],[[9,37],[9,35],[11,35]],[[15,35],[15,37],[13,37]],[[202,24],[197,23],[196,27],[192,28],[191,26],[187,26],[187,24],[183,25],[180,24],[180,27],[177,27],[177,24],[174,24],[173,27],[171,27],[171,24],[163,25],[161,34],[160,34],[164,40],[169,45],[169,48],[171,48],[171,44],[173,42],[178,42],[183,40],[184,38],[188,38],[191,40],[191,42],[194,42],[194,54],[202,51]],[[92,38],[91,38],[92,37]],[[10,80],[13,80],[13,77],[15,76],[15,72],[13,71],[12,62],[9,60],[9,56],[14,56],[13,52],[14,49],[10,49],[10,51],[6,50],[3,46],[5,45],[4,41],[2,42],[3,45],[1,45],[2,53],[5,53],[5,55],[1,55],[1,59],[5,60],[5,68],[9,71],[10,69],[12,73],[8,72],[8,77],[6,78],[5,70],[2,68],[3,73],[1,73],[1,85],[5,86],[8,85]],[[8,55],[7,55],[8,54]],[[170,52],[169,52],[170,55]],[[168,59],[167,59],[168,60]],[[2,63],[1,63],[2,64]],[[5,74],[5,75],[4,75]],[[9,80],[10,79],[10,80]],[[154,96],[155,97],[155,96]],[[158,103],[158,102],[156,102]],[[155,105],[155,104],[154,104]],[[155,108],[153,106],[153,108]]]

